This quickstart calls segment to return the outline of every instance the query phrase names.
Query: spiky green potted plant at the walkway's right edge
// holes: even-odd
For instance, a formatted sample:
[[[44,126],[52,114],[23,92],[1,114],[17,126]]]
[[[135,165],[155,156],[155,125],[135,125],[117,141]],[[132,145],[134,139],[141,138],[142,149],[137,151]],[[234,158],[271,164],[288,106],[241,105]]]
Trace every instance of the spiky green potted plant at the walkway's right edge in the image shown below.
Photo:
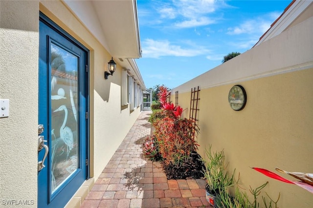
[[[228,172],[225,170],[227,164],[224,163],[224,150],[212,152],[211,145],[209,145],[204,153],[205,158],[202,158],[202,162],[204,164],[203,174],[207,181],[205,187],[206,200],[214,206],[214,197],[233,185],[234,174],[229,177]]]

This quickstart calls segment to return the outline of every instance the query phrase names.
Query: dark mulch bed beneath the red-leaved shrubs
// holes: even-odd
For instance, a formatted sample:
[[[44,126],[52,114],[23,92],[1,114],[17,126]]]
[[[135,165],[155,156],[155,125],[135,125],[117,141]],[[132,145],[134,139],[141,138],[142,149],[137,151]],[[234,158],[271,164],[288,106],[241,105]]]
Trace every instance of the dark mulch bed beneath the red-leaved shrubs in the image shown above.
[[[167,179],[201,179],[204,177],[202,173],[203,163],[201,156],[194,152],[191,154],[191,160],[184,163],[180,167],[162,164]]]

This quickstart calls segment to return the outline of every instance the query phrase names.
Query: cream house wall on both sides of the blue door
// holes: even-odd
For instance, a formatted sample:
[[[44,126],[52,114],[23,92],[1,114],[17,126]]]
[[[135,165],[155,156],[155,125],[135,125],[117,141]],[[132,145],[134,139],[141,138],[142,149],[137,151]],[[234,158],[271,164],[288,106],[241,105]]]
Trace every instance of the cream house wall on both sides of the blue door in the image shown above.
[[[37,207],[39,11],[90,50],[90,177],[96,180],[140,107],[121,107],[121,67],[104,79],[111,55],[62,1],[0,1],[0,200],[33,200]],[[1,201],[2,203],[2,201]]]

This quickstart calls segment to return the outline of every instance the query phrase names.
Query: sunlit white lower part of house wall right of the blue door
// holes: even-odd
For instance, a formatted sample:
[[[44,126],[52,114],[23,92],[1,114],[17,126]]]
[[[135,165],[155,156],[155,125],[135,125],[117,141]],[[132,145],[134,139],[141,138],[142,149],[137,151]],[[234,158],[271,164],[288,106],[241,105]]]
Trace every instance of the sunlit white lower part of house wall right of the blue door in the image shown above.
[[[110,100],[120,101],[117,92],[120,92],[120,86],[111,83]],[[94,178],[97,179],[133,126],[140,114],[140,107],[130,113],[128,105],[128,108],[121,111],[120,104],[104,101],[95,92],[94,110]]]

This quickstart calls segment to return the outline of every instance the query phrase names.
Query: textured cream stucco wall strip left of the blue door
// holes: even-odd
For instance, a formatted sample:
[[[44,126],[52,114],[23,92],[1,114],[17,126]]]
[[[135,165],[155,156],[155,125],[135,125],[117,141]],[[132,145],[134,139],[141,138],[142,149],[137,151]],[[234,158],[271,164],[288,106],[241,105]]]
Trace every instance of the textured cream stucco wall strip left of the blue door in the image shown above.
[[[38,1],[0,1],[0,207],[37,207]],[[4,201],[3,201],[4,200]]]

